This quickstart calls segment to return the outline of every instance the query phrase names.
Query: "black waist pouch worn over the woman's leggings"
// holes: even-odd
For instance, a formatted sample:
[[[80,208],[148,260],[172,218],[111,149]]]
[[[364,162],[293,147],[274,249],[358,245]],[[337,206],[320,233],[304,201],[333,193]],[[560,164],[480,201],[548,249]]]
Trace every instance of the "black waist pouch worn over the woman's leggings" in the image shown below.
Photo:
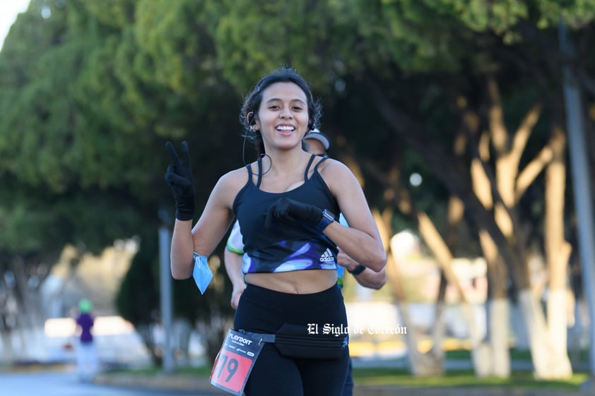
[[[341,359],[348,344],[347,335],[308,334],[304,325],[288,323],[283,324],[276,334],[250,334],[272,343],[281,356],[299,359]]]

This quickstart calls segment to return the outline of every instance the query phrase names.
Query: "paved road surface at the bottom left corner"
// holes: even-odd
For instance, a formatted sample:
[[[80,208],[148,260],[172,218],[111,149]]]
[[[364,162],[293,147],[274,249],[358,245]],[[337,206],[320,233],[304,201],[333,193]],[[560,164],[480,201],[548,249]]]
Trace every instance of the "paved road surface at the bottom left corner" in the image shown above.
[[[81,383],[74,371],[0,373],[1,396],[213,396],[216,392],[148,390]]]

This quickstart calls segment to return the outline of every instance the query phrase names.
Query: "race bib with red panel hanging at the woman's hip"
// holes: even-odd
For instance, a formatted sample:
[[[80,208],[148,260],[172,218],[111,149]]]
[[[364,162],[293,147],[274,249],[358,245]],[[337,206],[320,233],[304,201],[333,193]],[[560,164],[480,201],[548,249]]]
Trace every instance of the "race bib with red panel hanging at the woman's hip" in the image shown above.
[[[211,384],[232,395],[242,396],[263,346],[264,341],[258,335],[230,329],[213,364],[209,377]]]

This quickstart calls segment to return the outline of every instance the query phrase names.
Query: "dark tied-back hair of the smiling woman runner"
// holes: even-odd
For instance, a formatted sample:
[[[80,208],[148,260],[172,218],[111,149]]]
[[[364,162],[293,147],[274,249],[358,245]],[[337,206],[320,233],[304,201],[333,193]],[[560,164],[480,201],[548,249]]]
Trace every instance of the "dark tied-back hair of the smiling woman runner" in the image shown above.
[[[247,116],[252,112],[252,119],[254,119],[262,102],[262,92],[274,83],[294,83],[304,91],[307,97],[308,117],[310,119],[308,131],[314,128],[319,128],[318,124],[320,116],[322,115],[322,104],[320,104],[318,100],[314,100],[310,86],[298,72],[295,71],[295,69],[283,66],[262,77],[257,85],[254,85],[252,91],[249,92],[244,100],[244,104],[242,104],[242,109],[240,110],[240,123],[244,126],[244,133],[242,136],[254,143],[259,155],[264,154],[262,136],[259,131],[252,131]]]

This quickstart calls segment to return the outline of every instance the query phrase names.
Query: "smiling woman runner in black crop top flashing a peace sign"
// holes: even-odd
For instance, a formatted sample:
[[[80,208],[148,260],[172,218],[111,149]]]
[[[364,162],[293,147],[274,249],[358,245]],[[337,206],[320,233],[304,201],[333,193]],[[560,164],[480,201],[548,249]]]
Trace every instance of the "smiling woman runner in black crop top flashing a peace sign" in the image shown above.
[[[302,147],[305,134],[317,128],[321,110],[293,68],[281,67],[261,78],[242,104],[240,123],[245,138],[263,156],[220,177],[194,227],[189,148],[183,142],[179,157],[172,143],[166,143],[172,164],[165,179],[176,203],[173,277],[193,276],[193,256],[211,255],[234,217],[240,224],[246,288],[229,334],[257,337],[264,345],[258,342],[261,349],[249,351],[254,359],[236,354],[240,359],[228,360],[233,356],[230,344],[223,344],[223,357],[213,371],[218,374],[211,381],[231,389],[218,378],[225,361],[235,361],[233,368],[227,366],[229,378],[242,373],[234,377],[235,394],[245,386],[247,396],[341,395],[349,362],[347,335],[310,334],[307,329],[324,323],[347,328],[337,282],[338,248],[375,271],[386,263],[353,173]],[[339,212],[350,227],[337,221],[334,214]]]

